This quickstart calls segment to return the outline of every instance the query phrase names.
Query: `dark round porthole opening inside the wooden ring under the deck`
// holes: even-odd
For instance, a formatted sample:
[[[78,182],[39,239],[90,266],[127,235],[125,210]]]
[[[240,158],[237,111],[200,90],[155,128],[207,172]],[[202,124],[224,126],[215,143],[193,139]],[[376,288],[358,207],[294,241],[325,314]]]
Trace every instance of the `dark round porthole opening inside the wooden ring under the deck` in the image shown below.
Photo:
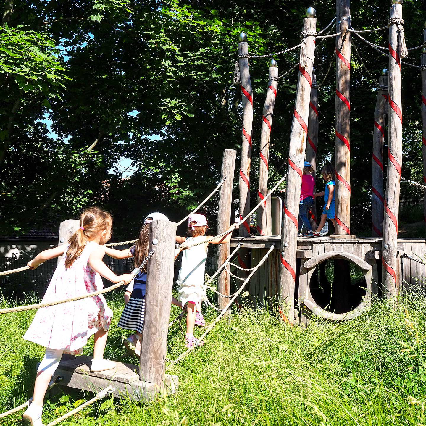
[[[366,295],[364,271],[345,259],[328,259],[315,269],[309,282],[312,298],[322,309],[344,314]]]

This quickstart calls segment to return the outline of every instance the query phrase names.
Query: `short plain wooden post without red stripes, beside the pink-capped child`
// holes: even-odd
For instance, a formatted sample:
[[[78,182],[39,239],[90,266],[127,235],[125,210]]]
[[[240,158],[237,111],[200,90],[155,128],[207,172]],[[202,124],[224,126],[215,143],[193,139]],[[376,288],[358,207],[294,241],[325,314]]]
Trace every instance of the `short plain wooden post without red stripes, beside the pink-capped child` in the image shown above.
[[[231,224],[232,205],[232,187],[234,183],[235,158],[236,150],[224,150],[222,157],[222,173],[221,179],[226,176],[226,181],[219,190],[219,208],[217,215],[217,233],[225,232]],[[231,243],[220,244],[217,249],[217,266],[220,268],[225,260],[231,254]],[[226,269],[219,275],[217,280],[219,293],[231,294],[231,278]],[[229,299],[226,297],[218,297],[218,307],[225,308]]]

